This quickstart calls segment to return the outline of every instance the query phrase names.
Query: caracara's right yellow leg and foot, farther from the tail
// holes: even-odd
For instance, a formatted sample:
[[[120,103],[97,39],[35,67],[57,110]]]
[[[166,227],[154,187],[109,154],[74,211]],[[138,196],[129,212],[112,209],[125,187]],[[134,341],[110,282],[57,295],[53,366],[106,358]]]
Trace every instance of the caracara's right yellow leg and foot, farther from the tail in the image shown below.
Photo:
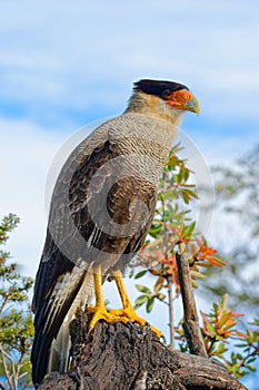
[[[132,304],[130,303],[129,295],[126,290],[126,285],[122,279],[122,274],[120,271],[112,271],[112,276],[116,281],[120,299],[123,305],[122,310],[111,310],[110,313],[114,314],[116,316],[120,316],[121,319],[128,319],[130,322],[139,323],[140,325],[148,325],[147,321],[145,319],[141,319],[137,315]],[[160,339],[162,337],[162,333],[156,329],[155,326],[150,326],[150,329],[157,334],[157,337]]]

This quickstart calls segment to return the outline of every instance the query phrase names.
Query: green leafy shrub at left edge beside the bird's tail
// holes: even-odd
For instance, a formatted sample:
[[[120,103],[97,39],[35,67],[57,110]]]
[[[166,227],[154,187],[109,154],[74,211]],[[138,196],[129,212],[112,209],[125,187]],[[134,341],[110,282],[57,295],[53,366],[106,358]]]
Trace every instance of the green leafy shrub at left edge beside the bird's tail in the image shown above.
[[[0,223],[0,245],[6,244],[9,233],[18,225],[14,214],[4,216]],[[30,383],[30,349],[33,324],[28,293],[32,287],[31,277],[17,272],[17,263],[9,252],[0,250],[0,389],[17,390]]]

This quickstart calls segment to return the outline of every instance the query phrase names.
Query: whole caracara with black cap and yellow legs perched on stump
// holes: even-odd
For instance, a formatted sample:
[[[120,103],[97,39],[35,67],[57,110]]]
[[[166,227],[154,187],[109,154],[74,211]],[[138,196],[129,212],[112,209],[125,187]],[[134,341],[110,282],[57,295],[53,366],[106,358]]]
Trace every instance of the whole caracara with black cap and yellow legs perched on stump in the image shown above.
[[[140,80],[126,111],[94,129],[64,163],[34,285],[34,383],[68,369],[69,323],[94,295],[90,329],[99,320],[147,324],[130,303],[122,273],[149,232],[159,177],[186,111],[199,114],[186,86]],[[116,281],[122,310],[106,309],[107,276]]]

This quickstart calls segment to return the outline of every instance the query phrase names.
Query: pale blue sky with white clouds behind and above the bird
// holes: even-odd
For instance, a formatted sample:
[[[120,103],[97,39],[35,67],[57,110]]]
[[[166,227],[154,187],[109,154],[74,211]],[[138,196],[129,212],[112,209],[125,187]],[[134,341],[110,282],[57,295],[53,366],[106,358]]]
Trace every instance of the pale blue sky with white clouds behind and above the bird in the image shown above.
[[[44,183],[62,143],[120,114],[140,78],[178,80],[201,115],[182,129],[208,165],[258,142],[259,2],[239,0],[2,1],[0,214],[22,222],[9,248],[34,274]]]

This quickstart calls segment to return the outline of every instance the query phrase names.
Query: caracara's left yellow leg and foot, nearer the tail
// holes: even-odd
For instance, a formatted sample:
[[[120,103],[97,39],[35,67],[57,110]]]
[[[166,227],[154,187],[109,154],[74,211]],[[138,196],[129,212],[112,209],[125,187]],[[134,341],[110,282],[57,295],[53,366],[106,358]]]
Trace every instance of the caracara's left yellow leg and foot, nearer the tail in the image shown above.
[[[102,293],[102,276],[101,276],[101,266],[99,265],[93,271],[93,283],[94,283],[94,293],[96,293],[96,306],[89,306],[88,313],[93,314],[90,329],[93,329],[96,323],[100,320],[104,320],[108,323],[123,322],[127,323],[128,320],[124,318],[118,318],[108,312],[104,304],[103,293]]]

